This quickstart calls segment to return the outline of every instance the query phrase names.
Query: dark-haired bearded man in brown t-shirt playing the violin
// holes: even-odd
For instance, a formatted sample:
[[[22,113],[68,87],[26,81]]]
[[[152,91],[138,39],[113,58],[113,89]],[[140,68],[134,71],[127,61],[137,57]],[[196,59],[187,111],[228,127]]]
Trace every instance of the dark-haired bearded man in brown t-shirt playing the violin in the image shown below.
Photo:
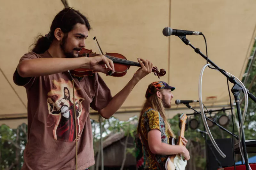
[[[32,51],[20,59],[13,81],[16,85],[25,87],[28,98],[28,142],[24,150],[22,170],[75,169],[76,139],[65,135],[67,130],[75,129],[73,120],[78,120],[79,128],[76,134],[79,136],[77,169],[84,170],[92,166],[95,162],[90,107],[108,119],[122,106],[133,87],[152,71],[153,64],[150,61],[138,59],[141,67],[114,97],[97,73],[79,80],[71,77],[68,70],[77,68],[102,73],[115,72],[113,62],[104,55],[78,57],[81,48],[85,47],[90,29],[83,14],[73,8],[65,8],[53,19],[50,32],[38,37]],[[102,68],[102,64],[106,64],[108,68]],[[75,109],[67,104],[67,107],[60,105],[59,101],[65,99],[65,89],[69,89],[68,105],[78,103]],[[70,109],[79,111],[78,114],[70,112],[77,119],[73,117],[58,131],[61,116],[68,116]],[[59,111],[58,114],[54,114],[56,111]]]

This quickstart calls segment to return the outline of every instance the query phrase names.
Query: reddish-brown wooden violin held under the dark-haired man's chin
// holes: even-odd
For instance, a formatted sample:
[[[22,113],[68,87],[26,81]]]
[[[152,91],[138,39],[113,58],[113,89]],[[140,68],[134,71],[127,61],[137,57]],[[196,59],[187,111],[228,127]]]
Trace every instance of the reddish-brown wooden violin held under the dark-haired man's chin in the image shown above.
[[[93,39],[95,40],[96,37],[94,37]],[[97,39],[96,39],[96,41],[97,41]],[[97,41],[97,43],[98,43],[98,41]],[[99,44],[98,44],[98,46],[99,46]],[[99,51],[101,54],[96,54],[96,53],[92,52],[91,49],[82,48],[78,54],[78,57],[82,57],[82,56],[94,57],[94,56],[98,56],[98,55],[103,55],[103,52],[102,52],[100,46],[99,46]],[[105,56],[113,61],[114,67],[115,67],[115,72],[112,73],[112,71],[110,70],[110,71],[108,71],[107,76],[109,75],[109,76],[113,76],[113,77],[123,77],[127,73],[127,70],[129,70],[130,66],[141,67],[140,63],[129,61],[122,54],[106,53]],[[107,66],[105,64],[102,64],[102,67],[107,68]],[[70,70],[70,73],[73,76],[79,77],[79,78],[84,77],[84,76],[92,76],[92,74],[95,72],[96,71],[93,71],[91,69],[84,69],[84,68]],[[164,76],[166,74],[166,71],[164,69],[160,69],[160,71],[158,71],[157,67],[153,67],[152,72],[156,76],[158,76],[158,78],[160,78],[161,76]]]

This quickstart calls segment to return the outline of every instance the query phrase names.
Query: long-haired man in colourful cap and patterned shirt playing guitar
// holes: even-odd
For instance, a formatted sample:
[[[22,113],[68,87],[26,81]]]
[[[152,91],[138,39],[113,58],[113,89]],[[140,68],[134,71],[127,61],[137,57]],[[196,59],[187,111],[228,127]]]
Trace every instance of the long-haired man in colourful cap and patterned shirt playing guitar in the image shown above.
[[[164,108],[171,107],[174,89],[163,81],[148,85],[147,100],[141,110],[137,129],[142,143],[144,169],[164,169],[166,159],[174,154],[190,159],[186,149],[188,140],[182,137],[183,146],[174,144],[175,135],[164,113]]]

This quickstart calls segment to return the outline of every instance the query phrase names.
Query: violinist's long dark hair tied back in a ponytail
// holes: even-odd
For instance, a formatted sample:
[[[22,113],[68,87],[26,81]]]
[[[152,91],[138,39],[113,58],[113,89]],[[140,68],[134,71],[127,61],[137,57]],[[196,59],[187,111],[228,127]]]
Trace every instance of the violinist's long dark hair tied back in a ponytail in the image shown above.
[[[91,29],[88,19],[82,13],[74,8],[64,8],[54,17],[48,35],[39,35],[37,37],[36,42],[32,44],[34,46],[32,51],[37,54],[44,53],[55,38],[54,31],[56,28],[60,28],[63,33],[68,33],[77,23],[84,24],[88,28],[88,31]]]

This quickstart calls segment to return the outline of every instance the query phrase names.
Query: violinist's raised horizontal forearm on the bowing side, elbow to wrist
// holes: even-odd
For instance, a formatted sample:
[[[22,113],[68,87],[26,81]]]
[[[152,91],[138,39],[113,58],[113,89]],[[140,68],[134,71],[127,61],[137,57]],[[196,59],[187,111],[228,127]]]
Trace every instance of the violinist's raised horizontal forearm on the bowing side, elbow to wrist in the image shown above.
[[[23,60],[18,64],[21,77],[38,77],[73,70],[86,66],[85,57],[78,58],[37,58]]]

